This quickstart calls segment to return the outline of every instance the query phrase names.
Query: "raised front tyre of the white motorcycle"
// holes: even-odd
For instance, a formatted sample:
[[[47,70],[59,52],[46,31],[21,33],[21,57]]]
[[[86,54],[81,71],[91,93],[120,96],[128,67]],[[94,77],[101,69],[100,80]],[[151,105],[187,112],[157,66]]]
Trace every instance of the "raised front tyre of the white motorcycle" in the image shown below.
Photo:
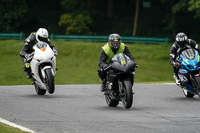
[[[51,69],[46,69],[46,85],[47,85],[47,91],[49,94],[53,94],[55,90],[55,84],[54,84],[54,76],[51,72]]]

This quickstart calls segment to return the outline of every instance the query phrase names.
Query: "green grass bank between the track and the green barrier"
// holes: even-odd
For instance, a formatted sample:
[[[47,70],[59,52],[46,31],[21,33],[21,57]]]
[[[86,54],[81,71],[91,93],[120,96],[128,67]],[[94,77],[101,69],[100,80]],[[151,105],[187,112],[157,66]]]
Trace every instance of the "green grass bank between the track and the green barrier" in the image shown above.
[[[59,51],[57,56],[56,84],[99,84],[97,63],[100,42],[52,42]],[[172,68],[169,65],[170,45],[127,44],[139,64],[136,69],[136,83],[172,82]],[[18,40],[0,41],[0,85],[25,85],[26,79],[19,52],[23,42]]]

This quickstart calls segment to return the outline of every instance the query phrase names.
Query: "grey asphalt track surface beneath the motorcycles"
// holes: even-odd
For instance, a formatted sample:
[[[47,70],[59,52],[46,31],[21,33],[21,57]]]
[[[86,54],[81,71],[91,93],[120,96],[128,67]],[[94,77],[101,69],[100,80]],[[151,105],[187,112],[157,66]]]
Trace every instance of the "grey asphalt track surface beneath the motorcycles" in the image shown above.
[[[199,133],[200,100],[175,84],[135,84],[130,109],[108,107],[100,85],[0,86],[0,118],[37,133]]]

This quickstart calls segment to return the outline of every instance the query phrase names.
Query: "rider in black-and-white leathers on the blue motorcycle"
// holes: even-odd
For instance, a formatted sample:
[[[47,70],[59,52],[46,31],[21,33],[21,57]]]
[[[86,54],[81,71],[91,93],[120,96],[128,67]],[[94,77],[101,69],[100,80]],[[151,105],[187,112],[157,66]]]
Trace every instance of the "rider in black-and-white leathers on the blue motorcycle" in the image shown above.
[[[179,58],[181,52],[183,52],[186,49],[193,48],[200,53],[200,48],[194,40],[189,39],[187,35],[183,32],[178,33],[175,37],[175,40],[176,41],[173,43],[170,51],[170,65],[173,67],[173,78],[176,84],[179,87],[183,87],[178,77],[178,70],[181,64],[177,61],[177,59]]]

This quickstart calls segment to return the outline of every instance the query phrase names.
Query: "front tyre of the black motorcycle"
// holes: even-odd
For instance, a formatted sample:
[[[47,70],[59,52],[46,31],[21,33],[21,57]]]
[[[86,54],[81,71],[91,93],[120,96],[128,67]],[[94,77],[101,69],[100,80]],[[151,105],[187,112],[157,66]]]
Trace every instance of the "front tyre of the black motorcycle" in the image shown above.
[[[133,91],[132,91],[132,85],[130,80],[124,80],[122,81],[124,91],[125,91],[125,97],[122,99],[123,106],[127,109],[131,108],[133,103]]]

